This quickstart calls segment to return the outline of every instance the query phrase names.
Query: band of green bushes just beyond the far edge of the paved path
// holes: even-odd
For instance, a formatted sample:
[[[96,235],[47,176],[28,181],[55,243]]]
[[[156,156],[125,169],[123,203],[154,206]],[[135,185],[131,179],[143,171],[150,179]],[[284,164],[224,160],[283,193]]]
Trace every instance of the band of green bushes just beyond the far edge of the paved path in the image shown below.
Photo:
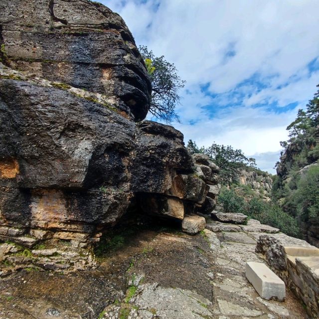
[[[259,220],[262,224],[279,228],[289,236],[299,236],[300,229],[297,221],[273,202],[265,202],[258,197],[245,201],[234,190],[226,187],[222,187],[219,201],[226,212],[243,213]]]

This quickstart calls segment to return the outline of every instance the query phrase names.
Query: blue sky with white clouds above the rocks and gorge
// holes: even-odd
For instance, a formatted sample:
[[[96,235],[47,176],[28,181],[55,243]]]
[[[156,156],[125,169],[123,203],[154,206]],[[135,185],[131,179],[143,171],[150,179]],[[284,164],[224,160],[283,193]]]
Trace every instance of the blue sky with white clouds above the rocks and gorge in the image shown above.
[[[275,173],[279,142],[319,84],[319,0],[101,0],[186,80],[172,125]]]

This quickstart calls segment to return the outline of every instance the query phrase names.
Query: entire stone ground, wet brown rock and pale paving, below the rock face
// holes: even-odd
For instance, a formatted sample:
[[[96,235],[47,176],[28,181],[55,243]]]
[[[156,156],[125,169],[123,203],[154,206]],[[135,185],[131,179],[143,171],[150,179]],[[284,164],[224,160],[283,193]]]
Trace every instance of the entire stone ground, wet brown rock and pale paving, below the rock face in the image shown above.
[[[289,291],[285,302],[265,301],[246,280],[245,263],[264,262],[255,253],[263,232],[217,226],[194,236],[141,230],[96,271],[4,278],[0,319],[308,319]]]

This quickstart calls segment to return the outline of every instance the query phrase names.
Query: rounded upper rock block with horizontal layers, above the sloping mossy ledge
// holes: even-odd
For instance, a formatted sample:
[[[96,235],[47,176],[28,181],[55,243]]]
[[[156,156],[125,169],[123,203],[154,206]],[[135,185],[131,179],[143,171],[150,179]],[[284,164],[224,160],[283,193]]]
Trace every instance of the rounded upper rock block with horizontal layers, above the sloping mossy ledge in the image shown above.
[[[1,42],[14,69],[106,95],[136,121],[151,83],[123,19],[86,0],[3,0]]]

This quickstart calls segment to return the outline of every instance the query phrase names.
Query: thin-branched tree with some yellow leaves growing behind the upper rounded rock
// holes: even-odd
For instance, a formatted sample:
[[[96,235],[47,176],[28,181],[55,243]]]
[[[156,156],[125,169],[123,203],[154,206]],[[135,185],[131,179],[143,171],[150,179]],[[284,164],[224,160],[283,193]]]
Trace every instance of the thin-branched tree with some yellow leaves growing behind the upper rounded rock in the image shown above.
[[[178,90],[183,88],[185,81],[177,75],[173,63],[169,63],[164,56],[155,57],[147,46],[140,46],[139,50],[145,61],[152,82],[152,96],[149,111],[158,119],[166,123],[179,121],[175,113],[175,106],[180,102]]]

